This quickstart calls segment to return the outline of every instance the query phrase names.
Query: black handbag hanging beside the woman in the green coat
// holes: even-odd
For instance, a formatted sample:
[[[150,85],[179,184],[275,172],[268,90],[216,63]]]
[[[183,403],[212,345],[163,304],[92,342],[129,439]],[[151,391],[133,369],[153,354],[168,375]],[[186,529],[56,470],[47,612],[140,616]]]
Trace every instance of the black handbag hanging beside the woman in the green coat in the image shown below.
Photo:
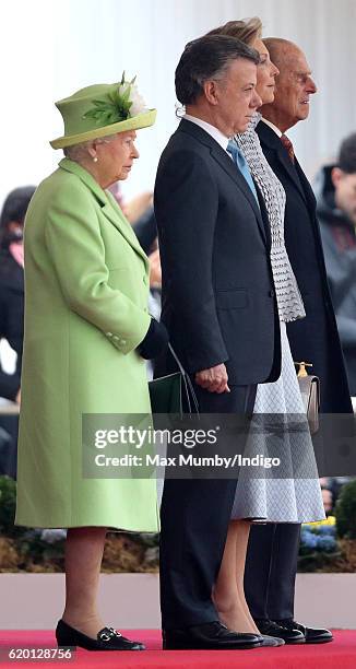
[[[149,383],[152,413],[175,413],[182,415],[199,413],[198,399],[189,374],[168,343],[179,372],[154,378]]]

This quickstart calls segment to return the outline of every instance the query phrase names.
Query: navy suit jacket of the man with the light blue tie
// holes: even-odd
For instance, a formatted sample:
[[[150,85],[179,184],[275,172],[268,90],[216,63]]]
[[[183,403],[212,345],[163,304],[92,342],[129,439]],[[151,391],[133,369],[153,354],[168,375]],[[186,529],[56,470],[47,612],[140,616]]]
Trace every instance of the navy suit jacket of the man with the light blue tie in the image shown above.
[[[155,215],[162,320],[183,365],[194,373],[225,363],[232,385],[275,380],[281,353],[269,226],[226,151],[185,119],[159,161]],[[158,363],[158,373],[171,368],[168,360]]]

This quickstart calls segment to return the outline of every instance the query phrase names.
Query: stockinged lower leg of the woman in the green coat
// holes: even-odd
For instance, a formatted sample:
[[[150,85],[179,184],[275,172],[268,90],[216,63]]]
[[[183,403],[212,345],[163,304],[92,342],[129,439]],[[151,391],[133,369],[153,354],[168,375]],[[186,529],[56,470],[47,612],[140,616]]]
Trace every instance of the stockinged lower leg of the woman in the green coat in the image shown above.
[[[105,627],[97,611],[97,591],[106,531],[104,527],[79,527],[67,533],[62,620],[92,638]]]

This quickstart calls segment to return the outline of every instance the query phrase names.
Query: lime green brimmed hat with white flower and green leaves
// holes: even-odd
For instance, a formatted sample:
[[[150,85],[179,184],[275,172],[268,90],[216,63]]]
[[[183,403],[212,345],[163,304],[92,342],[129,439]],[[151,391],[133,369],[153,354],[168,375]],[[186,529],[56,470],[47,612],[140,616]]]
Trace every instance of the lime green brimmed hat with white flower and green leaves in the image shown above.
[[[116,132],[152,126],[156,109],[147,109],[132,81],[96,84],[60,99],[56,107],[64,121],[64,134],[50,142],[54,149],[72,146]]]

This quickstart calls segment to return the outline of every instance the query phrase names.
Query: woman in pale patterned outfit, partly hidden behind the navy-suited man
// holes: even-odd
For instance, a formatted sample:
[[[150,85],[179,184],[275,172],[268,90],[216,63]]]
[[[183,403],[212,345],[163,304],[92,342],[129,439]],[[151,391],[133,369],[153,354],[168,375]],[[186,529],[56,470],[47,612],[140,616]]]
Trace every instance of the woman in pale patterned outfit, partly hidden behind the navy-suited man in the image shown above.
[[[273,103],[278,69],[271,61],[269,51],[261,40],[260,19],[256,16],[249,21],[230,21],[210,34],[236,37],[258,50],[260,62],[257,69],[257,92],[262,105]],[[283,478],[256,479],[248,470],[242,469],[239,472],[224,559],[214,588],[214,601],[221,620],[230,629],[262,632],[265,635],[265,645],[273,645],[276,639],[281,644],[304,643],[305,635],[299,630],[289,630],[272,622],[265,623],[264,620],[254,622],[245,598],[245,564],[236,559],[237,542],[241,541],[241,537],[236,532],[236,520],[241,518],[246,520],[244,540],[247,544],[250,523],[252,521],[253,527],[256,519],[258,523],[262,520],[269,524],[278,523],[285,527],[285,524],[321,520],[324,518],[324,512],[313,447],[286,331],[288,322],[305,318],[305,308],[284,243],[286,196],[281,181],[263,155],[256,132],[260,119],[261,114],[256,111],[248,130],[237,134],[235,146],[234,144],[232,146],[232,152],[235,149],[236,153],[238,151],[242,153],[250,175],[262,195],[269,216],[272,242],[271,265],[281,331],[282,373],[276,382],[258,386],[253,413],[265,413],[276,418],[276,414],[293,415],[294,423],[296,420],[300,423],[300,430],[294,429],[293,432],[283,435],[284,461],[292,462],[292,466],[284,470]],[[259,435],[252,437],[248,446],[253,448],[253,453],[257,450],[265,454],[269,451],[269,442],[270,435],[268,438]],[[302,478],[300,474],[295,476],[295,472],[300,472],[306,463],[308,463],[307,476]],[[283,504],[281,500],[284,501]],[[288,550],[288,545],[285,550]],[[260,599],[263,606],[263,590],[260,592]]]

